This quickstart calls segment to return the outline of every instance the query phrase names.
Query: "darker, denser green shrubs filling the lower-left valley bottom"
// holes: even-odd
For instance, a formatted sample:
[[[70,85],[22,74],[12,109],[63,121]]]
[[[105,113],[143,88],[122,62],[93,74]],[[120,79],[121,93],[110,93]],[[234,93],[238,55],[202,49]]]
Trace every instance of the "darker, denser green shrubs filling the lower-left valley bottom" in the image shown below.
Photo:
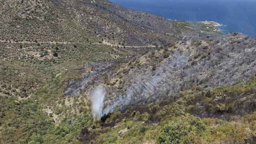
[[[90,126],[87,114],[68,116],[56,125],[50,116],[38,108],[33,99],[18,102],[15,98],[0,97],[0,142],[2,144],[78,143],[81,129]]]

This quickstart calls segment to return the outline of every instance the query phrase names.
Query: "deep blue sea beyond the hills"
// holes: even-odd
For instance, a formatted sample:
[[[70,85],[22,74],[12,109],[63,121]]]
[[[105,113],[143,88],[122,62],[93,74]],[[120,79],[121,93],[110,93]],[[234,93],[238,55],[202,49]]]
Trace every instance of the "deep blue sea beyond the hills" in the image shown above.
[[[215,21],[222,32],[256,37],[256,0],[110,0],[172,20]]]

